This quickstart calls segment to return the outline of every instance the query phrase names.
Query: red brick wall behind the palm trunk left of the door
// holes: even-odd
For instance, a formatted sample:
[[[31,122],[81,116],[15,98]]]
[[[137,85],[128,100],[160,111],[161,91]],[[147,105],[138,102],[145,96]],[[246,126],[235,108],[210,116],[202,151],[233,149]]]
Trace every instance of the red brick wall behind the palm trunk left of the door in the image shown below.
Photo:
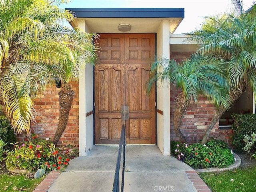
[[[72,90],[75,92],[74,101],[69,113],[68,124],[64,130],[58,144],[71,144],[78,146],[79,144],[79,99],[78,99],[78,82],[70,83]],[[59,118],[59,100],[58,92],[61,88],[49,87],[38,95],[34,101],[36,110],[36,122],[31,124],[31,133],[39,138],[53,138],[58,127]],[[24,141],[26,134],[17,135],[17,140]]]

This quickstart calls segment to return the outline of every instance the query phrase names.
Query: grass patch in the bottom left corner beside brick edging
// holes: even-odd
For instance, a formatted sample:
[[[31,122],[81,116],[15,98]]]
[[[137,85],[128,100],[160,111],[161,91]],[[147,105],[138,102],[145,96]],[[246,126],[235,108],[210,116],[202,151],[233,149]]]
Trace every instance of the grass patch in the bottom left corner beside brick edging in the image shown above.
[[[0,191],[13,192],[13,191],[26,191],[32,192],[44,180],[45,176],[34,179],[28,178],[26,174],[8,174],[0,175]]]

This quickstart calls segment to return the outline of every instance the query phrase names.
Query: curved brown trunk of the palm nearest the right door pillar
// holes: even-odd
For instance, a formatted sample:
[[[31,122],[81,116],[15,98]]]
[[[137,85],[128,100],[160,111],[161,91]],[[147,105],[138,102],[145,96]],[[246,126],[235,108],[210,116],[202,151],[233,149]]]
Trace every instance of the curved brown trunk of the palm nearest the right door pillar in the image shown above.
[[[180,132],[182,117],[186,111],[187,106],[188,106],[188,101],[186,100],[186,96],[184,92],[181,92],[176,98],[176,109],[174,112],[173,126],[174,126],[174,132],[176,136],[180,138],[180,142],[182,143],[187,142],[182,132]]]

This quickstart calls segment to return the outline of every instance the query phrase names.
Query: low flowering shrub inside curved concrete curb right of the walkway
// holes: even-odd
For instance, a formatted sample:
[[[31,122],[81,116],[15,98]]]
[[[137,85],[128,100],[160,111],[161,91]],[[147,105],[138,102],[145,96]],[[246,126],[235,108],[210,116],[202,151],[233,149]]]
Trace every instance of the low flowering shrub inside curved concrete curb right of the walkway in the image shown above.
[[[176,143],[172,148],[174,156],[192,168],[225,168],[233,164],[235,159],[233,152],[220,140],[211,140],[205,145],[199,143],[182,145]]]

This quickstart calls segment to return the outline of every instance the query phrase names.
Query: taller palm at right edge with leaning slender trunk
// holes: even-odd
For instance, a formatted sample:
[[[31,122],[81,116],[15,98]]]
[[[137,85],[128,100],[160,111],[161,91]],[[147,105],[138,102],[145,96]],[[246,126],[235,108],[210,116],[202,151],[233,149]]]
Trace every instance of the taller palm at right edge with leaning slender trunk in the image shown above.
[[[244,13],[242,1],[233,1],[236,14],[208,17],[202,29],[192,32],[190,41],[201,45],[198,53],[215,54],[228,62],[227,76],[230,82],[232,105],[250,85],[256,95],[256,5]],[[210,122],[202,144],[207,142],[210,132],[225,108],[219,108]]]

